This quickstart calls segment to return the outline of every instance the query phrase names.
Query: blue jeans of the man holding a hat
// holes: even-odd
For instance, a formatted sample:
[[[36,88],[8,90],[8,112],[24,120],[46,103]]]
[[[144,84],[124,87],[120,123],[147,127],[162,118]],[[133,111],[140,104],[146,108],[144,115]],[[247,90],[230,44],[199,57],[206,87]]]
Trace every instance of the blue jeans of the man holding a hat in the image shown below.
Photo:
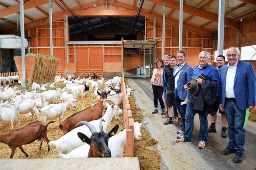
[[[190,96],[188,100],[188,104],[186,107],[186,115],[185,115],[185,133],[183,138],[192,141],[192,132],[194,128],[194,116],[196,114],[194,110],[194,105],[196,103],[196,99],[193,99],[192,96]],[[207,119],[206,113],[199,114],[199,120],[200,120],[200,131],[199,131],[199,141],[206,142],[208,139],[208,119]]]

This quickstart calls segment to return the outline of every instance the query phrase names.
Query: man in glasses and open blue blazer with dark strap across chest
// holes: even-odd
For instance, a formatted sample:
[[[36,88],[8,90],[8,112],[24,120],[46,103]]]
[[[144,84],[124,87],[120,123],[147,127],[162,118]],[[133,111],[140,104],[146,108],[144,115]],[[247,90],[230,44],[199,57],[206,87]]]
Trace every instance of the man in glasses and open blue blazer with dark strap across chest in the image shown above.
[[[176,52],[176,57],[178,64],[175,66],[173,71],[174,76],[174,102],[175,106],[180,112],[182,119],[182,130],[177,131],[177,133],[182,136],[185,132],[185,114],[186,114],[186,106],[188,103],[188,99],[190,94],[186,91],[183,86],[190,81],[190,76],[192,72],[192,67],[185,63],[186,54],[184,51],[180,50]],[[186,104],[181,105],[181,102]],[[179,118],[180,119],[180,118]]]

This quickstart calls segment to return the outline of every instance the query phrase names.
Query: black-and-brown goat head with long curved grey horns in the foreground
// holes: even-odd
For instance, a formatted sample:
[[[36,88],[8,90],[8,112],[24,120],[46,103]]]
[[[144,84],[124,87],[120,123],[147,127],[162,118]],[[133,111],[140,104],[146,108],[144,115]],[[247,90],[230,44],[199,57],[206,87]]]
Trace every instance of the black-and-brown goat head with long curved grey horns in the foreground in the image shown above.
[[[108,148],[108,135],[103,131],[102,127],[103,119],[100,119],[100,132],[97,132],[95,127],[88,123],[87,121],[80,121],[77,123],[79,125],[86,125],[92,132],[92,136],[88,138],[83,133],[78,132],[78,137],[90,145],[88,152],[88,158],[90,157],[111,157],[110,149]]]

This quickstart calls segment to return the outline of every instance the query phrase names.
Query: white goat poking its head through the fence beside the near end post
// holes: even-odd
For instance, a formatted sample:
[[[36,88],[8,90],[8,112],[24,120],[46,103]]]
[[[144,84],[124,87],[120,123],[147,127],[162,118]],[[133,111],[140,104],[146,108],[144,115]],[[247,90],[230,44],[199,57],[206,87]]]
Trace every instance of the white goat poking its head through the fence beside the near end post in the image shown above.
[[[146,124],[148,124],[148,122],[144,122],[144,123],[134,122],[134,138],[137,141],[140,141],[142,139],[140,129],[142,125],[146,125]],[[112,137],[109,137],[108,147],[111,151],[112,158],[122,157],[125,143],[126,143],[126,129],[124,129],[123,131],[121,131],[120,133]],[[68,154],[58,154],[58,155],[60,156],[60,158],[87,158],[89,149],[90,149],[90,145],[85,144],[72,150]]]

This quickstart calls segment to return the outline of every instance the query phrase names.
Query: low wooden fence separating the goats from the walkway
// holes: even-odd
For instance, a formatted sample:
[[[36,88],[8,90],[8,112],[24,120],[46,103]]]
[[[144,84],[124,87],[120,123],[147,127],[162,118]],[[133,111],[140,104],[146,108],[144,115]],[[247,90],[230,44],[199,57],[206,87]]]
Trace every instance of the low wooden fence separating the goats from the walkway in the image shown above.
[[[134,119],[132,119],[132,111],[130,110],[130,104],[128,95],[126,93],[126,86],[124,83],[124,74],[122,73],[121,78],[121,90],[123,92],[123,114],[124,114],[124,127],[126,128],[126,145],[125,145],[125,156],[133,157],[134,147]]]

